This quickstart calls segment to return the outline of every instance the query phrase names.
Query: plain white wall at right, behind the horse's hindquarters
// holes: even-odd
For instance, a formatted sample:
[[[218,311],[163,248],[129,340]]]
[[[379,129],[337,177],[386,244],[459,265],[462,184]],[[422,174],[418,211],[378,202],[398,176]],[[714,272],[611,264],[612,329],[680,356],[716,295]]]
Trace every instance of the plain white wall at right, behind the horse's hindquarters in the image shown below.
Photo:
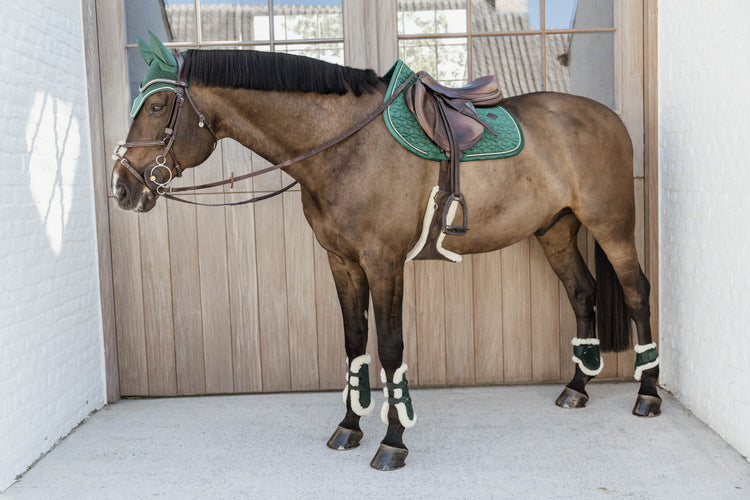
[[[750,456],[750,2],[660,0],[661,381]]]

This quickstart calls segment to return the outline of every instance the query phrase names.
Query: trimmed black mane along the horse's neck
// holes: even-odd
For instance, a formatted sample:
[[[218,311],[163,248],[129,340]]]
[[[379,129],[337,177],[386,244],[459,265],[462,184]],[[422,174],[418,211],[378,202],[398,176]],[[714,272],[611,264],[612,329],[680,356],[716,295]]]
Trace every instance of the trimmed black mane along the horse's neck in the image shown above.
[[[256,90],[362,95],[371,93],[382,82],[370,69],[255,50],[189,50],[185,69],[191,81],[207,86]]]

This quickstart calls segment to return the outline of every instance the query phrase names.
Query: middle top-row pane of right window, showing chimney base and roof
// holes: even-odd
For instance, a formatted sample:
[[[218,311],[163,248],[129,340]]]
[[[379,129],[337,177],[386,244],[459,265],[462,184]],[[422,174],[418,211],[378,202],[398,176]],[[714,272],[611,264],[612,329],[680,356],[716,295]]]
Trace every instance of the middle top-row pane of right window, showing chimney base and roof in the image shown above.
[[[538,30],[541,0],[472,0],[472,33]]]

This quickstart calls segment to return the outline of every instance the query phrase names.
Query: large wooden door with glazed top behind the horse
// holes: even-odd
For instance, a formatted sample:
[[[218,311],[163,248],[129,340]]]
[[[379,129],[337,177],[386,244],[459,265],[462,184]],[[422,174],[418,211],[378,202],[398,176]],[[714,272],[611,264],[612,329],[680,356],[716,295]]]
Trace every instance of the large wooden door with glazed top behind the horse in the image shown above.
[[[399,56],[427,65],[431,58],[455,62],[457,57],[468,68],[463,73],[455,68],[431,70],[456,84],[480,76],[474,73],[484,69],[482,61],[493,51],[526,50],[523,57],[528,60],[516,53],[516,64],[526,70],[529,64],[539,66],[539,78],[527,78],[532,87],[539,88],[525,89],[527,80],[509,74],[504,85],[515,85],[518,92],[506,90],[506,95],[562,85],[548,69],[559,66],[564,56],[554,50],[567,43],[563,52],[570,54],[573,37],[603,36],[613,47],[610,62],[603,63],[614,68],[613,79],[604,84],[611,89],[607,94],[610,105],[623,116],[634,138],[643,136],[643,6],[639,0],[615,1],[611,25],[594,23],[567,31],[527,26],[527,33],[518,34],[518,26],[479,26],[465,20],[465,32],[445,35],[425,19],[445,15],[441,10],[451,11],[452,16],[461,9],[465,19],[478,19],[478,13],[484,12],[481,9],[488,6],[499,12],[502,1],[344,0],[343,6],[317,2],[326,4],[323,7],[314,0],[293,3],[309,6],[294,10],[254,0],[236,2],[223,11],[213,2],[201,5],[197,0],[97,0],[107,151],[126,135],[132,88],[143,72],[132,33],[145,34],[147,28],[171,40],[168,45],[175,49],[249,47],[297,52],[373,67],[381,73]],[[527,5],[526,0],[507,3],[511,10]],[[544,3],[538,2],[540,7]],[[136,4],[144,7],[133,8]],[[497,17],[498,22],[512,18]],[[414,26],[428,34],[416,33]],[[529,47],[523,49],[518,42],[531,38],[536,45],[529,45],[529,55]],[[642,140],[634,142],[640,209],[637,231],[643,256],[643,145]],[[241,174],[267,165],[225,139],[208,162],[187,172],[180,184],[208,182],[230,171]],[[108,164],[107,178],[110,169]],[[215,188],[195,198],[208,203],[236,201],[276,190],[288,180],[285,174],[275,173],[233,190]],[[162,199],[145,215],[119,210],[110,192],[109,224],[123,396],[342,387],[341,313],[325,251],[302,215],[299,190],[231,208],[193,207]],[[591,238],[582,232],[579,243],[584,257],[592,262]],[[467,257],[460,264],[409,263],[405,288],[405,362],[413,383],[559,381],[572,374],[573,313],[533,238],[502,251]],[[372,321],[368,352],[376,358]],[[605,356],[602,376],[631,376],[632,364],[630,353]],[[377,362],[375,368],[372,383],[379,386]]]

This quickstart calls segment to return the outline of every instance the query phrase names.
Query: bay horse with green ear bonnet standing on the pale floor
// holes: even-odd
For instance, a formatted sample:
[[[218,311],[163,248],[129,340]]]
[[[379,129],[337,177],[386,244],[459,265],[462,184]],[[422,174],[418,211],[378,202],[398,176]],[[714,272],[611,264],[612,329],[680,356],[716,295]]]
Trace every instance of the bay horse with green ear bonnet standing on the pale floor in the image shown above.
[[[400,147],[382,119],[363,124],[382,105],[388,82],[372,70],[283,53],[172,54],[154,36],[139,45],[149,73],[127,140],[114,156],[117,205],[147,212],[160,196],[170,196],[172,178],[204,162],[225,137],[277,164],[302,155],[281,165],[299,182],[304,215],[328,252],[349,366],[346,414],[328,445],[358,446],[360,417],[374,406],[365,352],[371,295],[387,424],[371,465],[403,466],[403,432],[416,420],[403,363],[404,263],[420,237],[438,163]],[[520,95],[502,105],[520,124],[525,146],[514,157],[463,168],[471,228],[447,236],[444,247],[459,255],[490,252],[534,235],[576,317],[576,371],[557,404],[585,405],[585,386],[602,367],[600,342],[602,351],[629,347],[632,320],[641,382],[633,413],[658,415],[650,286],[636,256],[633,148],[623,123],[604,105],[561,93]],[[352,127],[361,130],[342,139]],[[305,156],[311,150],[315,154]],[[577,247],[581,225],[597,242],[597,281]]]

